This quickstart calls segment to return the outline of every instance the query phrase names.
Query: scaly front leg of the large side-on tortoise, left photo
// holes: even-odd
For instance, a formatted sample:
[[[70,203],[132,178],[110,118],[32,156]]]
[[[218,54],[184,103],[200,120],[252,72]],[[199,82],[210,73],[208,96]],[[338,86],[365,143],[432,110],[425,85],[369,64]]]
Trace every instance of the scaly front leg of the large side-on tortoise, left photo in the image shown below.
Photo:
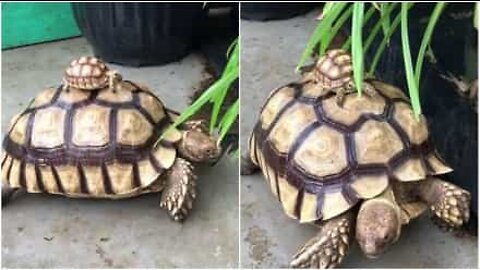
[[[175,221],[183,221],[192,210],[195,199],[195,175],[190,162],[177,158],[167,175],[160,207],[168,211]]]

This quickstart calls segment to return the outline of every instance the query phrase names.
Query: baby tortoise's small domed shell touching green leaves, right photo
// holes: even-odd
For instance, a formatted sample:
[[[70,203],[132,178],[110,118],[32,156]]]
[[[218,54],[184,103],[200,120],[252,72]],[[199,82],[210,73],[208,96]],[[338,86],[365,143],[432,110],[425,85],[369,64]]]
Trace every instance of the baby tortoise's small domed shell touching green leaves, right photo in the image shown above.
[[[352,81],[352,58],[342,49],[328,50],[317,61],[313,74],[322,88],[340,87]]]

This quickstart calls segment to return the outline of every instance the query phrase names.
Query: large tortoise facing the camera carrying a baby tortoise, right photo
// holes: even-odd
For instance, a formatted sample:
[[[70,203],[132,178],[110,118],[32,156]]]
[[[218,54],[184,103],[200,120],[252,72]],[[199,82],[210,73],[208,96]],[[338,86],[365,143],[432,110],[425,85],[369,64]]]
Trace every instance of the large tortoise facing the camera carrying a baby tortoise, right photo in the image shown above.
[[[470,194],[435,177],[451,169],[425,118],[377,80],[364,82],[368,95],[345,95],[351,81],[350,56],[329,50],[302,80],[273,90],[242,159],[242,174],[261,169],[289,217],[319,226],[293,267],[335,267],[354,238],[377,257],[428,208],[451,227],[469,219]]]

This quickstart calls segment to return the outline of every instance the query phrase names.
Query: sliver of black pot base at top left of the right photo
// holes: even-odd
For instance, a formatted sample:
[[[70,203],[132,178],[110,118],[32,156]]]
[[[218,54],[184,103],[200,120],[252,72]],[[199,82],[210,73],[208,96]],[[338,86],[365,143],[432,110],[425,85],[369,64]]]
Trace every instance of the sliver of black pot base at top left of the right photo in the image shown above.
[[[284,20],[318,6],[318,3],[241,3],[240,16],[252,21]]]

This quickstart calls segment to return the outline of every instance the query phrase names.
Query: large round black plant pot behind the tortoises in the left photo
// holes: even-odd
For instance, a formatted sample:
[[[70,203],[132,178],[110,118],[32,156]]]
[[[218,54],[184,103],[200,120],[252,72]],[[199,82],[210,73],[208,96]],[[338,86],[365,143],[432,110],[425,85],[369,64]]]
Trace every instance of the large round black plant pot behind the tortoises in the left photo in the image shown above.
[[[141,66],[185,56],[203,24],[202,3],[72,3],[96,56]]]

